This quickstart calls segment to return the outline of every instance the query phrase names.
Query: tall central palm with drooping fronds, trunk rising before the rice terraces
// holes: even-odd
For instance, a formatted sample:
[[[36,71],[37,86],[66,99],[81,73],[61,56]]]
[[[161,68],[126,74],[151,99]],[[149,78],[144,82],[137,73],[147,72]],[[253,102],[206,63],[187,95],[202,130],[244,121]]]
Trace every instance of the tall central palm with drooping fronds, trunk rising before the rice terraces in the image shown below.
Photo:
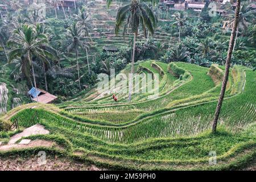
[[[133,38],[133,56],[131,60],[131,74],[134,73],[134,57],[135,57],[135,46],[136,38],[138,35],[139,25],[142,25],[143,32],[146,32],[146,28],[154,35],[154,28],[158,22],[153,11],[144,2],[132,0],[129,5],[125,5],[118,9],[117,18],[115,21],[115,34],[117,35],[119,29],[125,24],[123,28],[123,36],[127,29],[131,28],[131,32],[134,34]],[[146,36],[144,34],[144,36]],[[129,102],[131,101],[131,89],[132,89],[132,77],[129,81]]]

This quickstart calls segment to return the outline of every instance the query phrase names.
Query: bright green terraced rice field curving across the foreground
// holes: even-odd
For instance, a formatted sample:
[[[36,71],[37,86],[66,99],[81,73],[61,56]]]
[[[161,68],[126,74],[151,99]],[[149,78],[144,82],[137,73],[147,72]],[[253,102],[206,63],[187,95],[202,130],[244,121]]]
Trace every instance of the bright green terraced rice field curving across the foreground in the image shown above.
[[[127,94],[120,94],[114,102],[112,94],[97,97],[92,89],[80,101],[19,106],[5,119],[29,127],[36,111],[36,122],[51,134],[31,139],[55,140],[67,148],[66,155],[115,169],[233,169],[255,157],[256,73],[251,69],[230,71],[215,135],[209,131],[222,67],[151,60],[136,69],[159,73],[158,98],[135,93],[128,103]],[[217,151],[216,166],[208,164],[209,151]]]

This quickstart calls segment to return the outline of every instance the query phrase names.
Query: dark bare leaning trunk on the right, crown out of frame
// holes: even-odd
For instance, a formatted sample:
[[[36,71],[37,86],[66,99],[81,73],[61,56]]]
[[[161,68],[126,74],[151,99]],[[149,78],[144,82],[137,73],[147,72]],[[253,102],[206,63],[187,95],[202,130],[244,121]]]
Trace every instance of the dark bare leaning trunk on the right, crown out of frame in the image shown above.
[[[218,99],[218,104],[217,104],[216,111],[215,111],[215,114],[214,114],[214,120],[213,120],[213,126],[212,126],[212,132],[213,133],[216,133],[218,117],[220,116],[220,110],[221,110],[222,102],[223,102],[224,95],[225,95],[226,84],[227,84],[228,78],[229,78],[230,61],[232,59],[234,39],[235,39],[235,36],[236,36],[236,30],[237,30],[238,20],[239,20],[238,18],[239,18],[239,12],[240,12],[240,3],[241,3],[240,1],[241,0],[237,0],[235,20],[234,20],[234,24],[233,24],[232,33],[231,33],[231,36],[230,36],[228,56],[226,57],[225,75],[224,75],[224,78],[223,78],[223,81],[222,81],[220,97]]]

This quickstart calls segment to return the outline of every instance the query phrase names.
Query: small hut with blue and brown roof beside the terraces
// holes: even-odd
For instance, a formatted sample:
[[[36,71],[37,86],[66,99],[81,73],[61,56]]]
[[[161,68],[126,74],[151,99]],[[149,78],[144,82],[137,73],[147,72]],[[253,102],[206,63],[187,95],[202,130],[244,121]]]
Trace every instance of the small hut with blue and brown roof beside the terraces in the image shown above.
[[[43,103],[43,104],[49,104],[52,101],[56,100],[57,98],[56,96],[53,96],[52,94],[46,92],[45,90],[36,89],[34,87],[30,89],[28,94],[30,95],[33,101]]]

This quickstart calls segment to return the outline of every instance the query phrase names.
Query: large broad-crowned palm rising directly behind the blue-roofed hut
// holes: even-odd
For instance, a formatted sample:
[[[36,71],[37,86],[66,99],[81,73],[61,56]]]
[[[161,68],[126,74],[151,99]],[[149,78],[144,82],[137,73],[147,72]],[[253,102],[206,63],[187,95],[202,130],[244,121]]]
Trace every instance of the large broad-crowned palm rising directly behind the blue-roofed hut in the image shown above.
[[[45,35],[36,35],[34,29],[27,24],[23,24],[20,28],[13,32],[8,44],[15,46],[9,54],[9,63],[17,57],[23,61],[26,67],[32,67],[32,76],[34,78],[34,86],[36,88],[35,70],[32,63],[32,57],[38,57],[47,60],[50,53],[42,49],[42,44],[47,44],[48,40]]]

